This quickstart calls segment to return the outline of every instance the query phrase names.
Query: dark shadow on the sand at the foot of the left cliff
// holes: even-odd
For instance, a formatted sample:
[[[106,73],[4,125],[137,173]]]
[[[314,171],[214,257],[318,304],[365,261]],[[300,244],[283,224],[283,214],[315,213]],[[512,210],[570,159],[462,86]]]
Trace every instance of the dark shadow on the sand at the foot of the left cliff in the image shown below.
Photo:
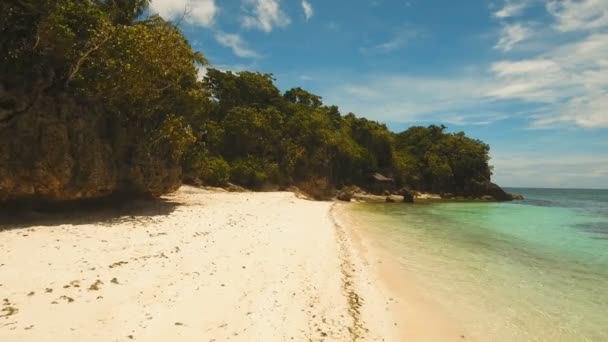
[[[0,203],[0,232],[34,226],[63,224],[146,223],[167,216],[182,203],[166,198],[113,196],[98,200],[70,202]]]

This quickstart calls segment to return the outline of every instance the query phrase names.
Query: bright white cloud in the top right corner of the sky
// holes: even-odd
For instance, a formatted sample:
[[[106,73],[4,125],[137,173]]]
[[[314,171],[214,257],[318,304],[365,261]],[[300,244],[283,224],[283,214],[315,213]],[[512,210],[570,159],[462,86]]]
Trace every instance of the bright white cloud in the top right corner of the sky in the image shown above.
[[[559,31],[593,30],[608,27],[606,0],[548,0],[547,11]]]

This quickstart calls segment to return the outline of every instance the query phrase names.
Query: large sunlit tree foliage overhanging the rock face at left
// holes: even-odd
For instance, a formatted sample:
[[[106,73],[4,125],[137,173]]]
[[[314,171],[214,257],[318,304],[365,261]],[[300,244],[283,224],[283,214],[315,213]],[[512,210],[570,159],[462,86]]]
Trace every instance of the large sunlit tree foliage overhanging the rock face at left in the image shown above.
[[[0,80],[9,90],[53,92],[101,108],[115,154],[132,164],[181,162],[200,137],[193,125],[208,116],[209,93],[197,79],[206,61],[160,17],[136,21],[147,4],[2,2]]]

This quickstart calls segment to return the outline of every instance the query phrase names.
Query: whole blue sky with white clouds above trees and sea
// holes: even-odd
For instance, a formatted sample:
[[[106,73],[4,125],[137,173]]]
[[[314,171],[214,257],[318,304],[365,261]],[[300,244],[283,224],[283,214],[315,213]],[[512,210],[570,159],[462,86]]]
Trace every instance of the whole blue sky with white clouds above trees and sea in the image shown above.
[[[491,146],[503,186],[608,188],[608,0],[152,0],[221,70]],[[185,15],[184,15],[185,14]],[[204,73],[204,70],[201,70]]]

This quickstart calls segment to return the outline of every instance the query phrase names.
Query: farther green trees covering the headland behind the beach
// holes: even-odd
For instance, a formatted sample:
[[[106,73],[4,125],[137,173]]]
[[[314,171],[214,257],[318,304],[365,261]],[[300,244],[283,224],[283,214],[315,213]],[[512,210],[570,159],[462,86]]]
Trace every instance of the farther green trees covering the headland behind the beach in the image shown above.
[[[370,186],[370,175],[381,173],[398,186],[457,193],[489,180],[488,146],[463,133],[429,126],[395,134],[352,113],[341,116],[302,88],[279,97],[272,81],[270,74],[214,69],[205,78],[210,122],[222,132],[210,134],[217,138],[207,146],[231,164],[234,183],[323,183],[326,193],[335,186]]]

